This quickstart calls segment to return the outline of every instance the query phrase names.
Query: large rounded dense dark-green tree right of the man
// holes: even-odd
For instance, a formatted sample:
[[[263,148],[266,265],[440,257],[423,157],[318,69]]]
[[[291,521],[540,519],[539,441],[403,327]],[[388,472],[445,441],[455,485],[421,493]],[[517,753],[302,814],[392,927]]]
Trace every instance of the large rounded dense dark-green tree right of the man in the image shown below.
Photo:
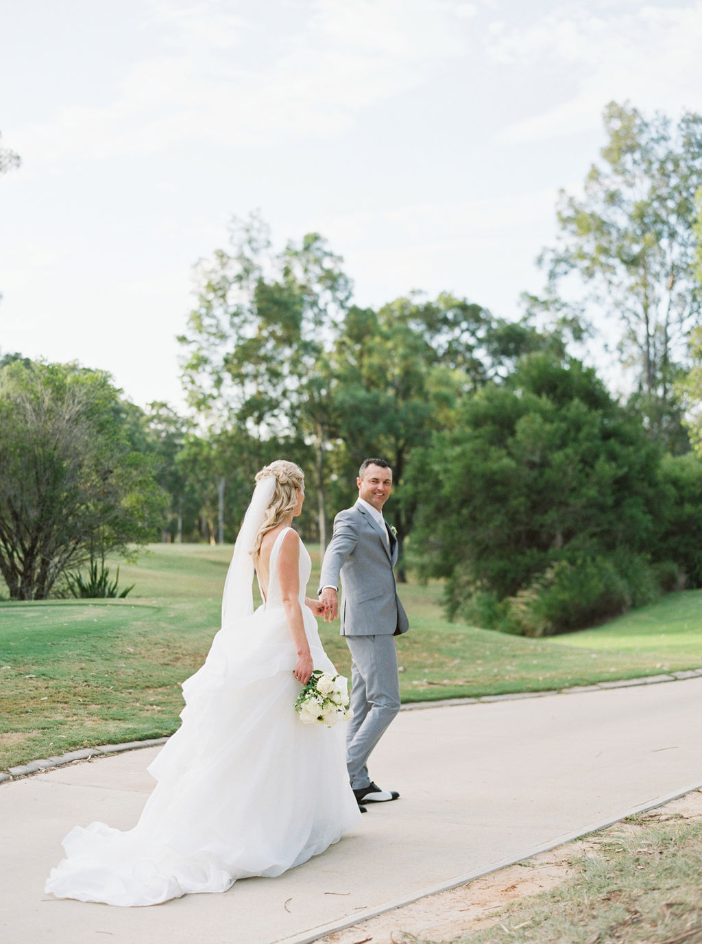
[[[662,552],[660,448],[574,359],[528,355],[505,383],[466,396],[454,429],[415,454],[410,480],[420,507],[412,542],[427,573],[447,579],[454,613],[481,594],[495,604],[527,591],[538,598],[557,578],[575,582],[594,567],[606,596],[595,595],[594,613],[574,606],[539,627],[586,625],[598,607],[626,609],[627,574],[638,567],[640,576]],[[665,551],[676,562],[672,541]],[[698,550],[694,581],[700,561]],[[506,612],[497,607],[493,621]]]

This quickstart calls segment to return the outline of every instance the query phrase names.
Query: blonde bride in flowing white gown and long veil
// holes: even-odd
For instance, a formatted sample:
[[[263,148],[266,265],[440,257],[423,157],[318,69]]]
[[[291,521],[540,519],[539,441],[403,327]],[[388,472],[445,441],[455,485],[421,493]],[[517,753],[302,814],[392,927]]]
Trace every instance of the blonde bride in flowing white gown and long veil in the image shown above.
[[[343,725],[302,724],[313,668],[334,672],[305,597],[311,562],[292,518],[304,476],[278,460],[256,477],[226,576],[222,629],[183,683],[182,724],[148,768],[158,783],[137,825],[76,826],[46,891],[146,905],[280,875],[357,825]],[[254,569],[263,603],[254,612]],[[311,611],[311,612],[310,612]]]

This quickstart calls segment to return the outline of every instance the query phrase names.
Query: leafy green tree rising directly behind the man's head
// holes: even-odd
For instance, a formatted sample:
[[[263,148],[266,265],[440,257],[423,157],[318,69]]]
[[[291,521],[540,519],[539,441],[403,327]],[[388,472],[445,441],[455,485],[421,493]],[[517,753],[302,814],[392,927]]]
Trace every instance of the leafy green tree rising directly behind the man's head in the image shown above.
[[[461,396],[510,373],[532,350],[561,354],[558,332],[544,334],[527,320],[508,323],[465,298],[419,293],[397,298],[379,311],[353,307],[331,354],[330,409],[343,430],[342,480],[355,476],[367,456],[393,465],[393,521],[400,546],[398,577],[405,577],[403,548],[417,511],[404,488],[412,453],[436,430],[452,429]]]

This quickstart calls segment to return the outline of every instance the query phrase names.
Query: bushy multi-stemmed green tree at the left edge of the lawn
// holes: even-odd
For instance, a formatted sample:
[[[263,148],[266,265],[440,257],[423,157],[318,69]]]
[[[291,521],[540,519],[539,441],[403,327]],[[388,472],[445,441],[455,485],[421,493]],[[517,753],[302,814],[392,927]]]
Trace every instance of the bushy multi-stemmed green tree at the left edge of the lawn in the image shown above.
[[[100,371],[0,370],[0,573],[10,597],[49,596],[67,570],[133,553],[167,506],[133,410]]]

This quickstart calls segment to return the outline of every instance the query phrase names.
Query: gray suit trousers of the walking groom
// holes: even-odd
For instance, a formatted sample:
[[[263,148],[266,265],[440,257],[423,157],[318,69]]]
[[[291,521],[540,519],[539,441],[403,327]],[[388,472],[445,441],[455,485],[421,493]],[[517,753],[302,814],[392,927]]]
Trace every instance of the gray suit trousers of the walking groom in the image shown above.
[[[346,766],[351,786],[368,786],[368,758],[400,710],[397,649],[391,634],[345,636],[351,652],[351,710],[346,729]]]

